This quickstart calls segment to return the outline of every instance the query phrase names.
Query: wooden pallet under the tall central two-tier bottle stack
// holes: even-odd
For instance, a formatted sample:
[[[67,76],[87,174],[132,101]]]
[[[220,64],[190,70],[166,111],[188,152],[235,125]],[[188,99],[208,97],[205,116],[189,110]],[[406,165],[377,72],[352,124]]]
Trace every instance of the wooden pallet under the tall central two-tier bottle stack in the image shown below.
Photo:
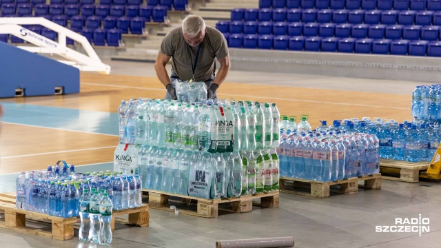
[[[170,205],[175,205],[178,207],[179,214],[205,218],[216,218],[218,211],[247,213],[253,210],[253,204],[260,207],[278,207],[279,200],[278,192],[259,193],[240,196],[238,198],[223,199],[204,199],[150,189],[143,189],[143,192],[148,194],[149,207],[152,209],[174,211],[170,209]],[[260,199],[260,204],[253,203],[253,200],[257,199]],[[228,209],[223,208],[225,207],[224,205],[228,205]],[[194,207],[196,207],[196,209],[194,209]]]

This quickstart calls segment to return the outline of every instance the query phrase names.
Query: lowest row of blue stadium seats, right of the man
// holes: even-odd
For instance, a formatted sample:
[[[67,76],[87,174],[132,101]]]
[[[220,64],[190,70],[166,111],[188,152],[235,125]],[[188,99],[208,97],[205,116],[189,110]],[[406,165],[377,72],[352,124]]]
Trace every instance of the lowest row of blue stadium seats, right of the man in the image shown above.
[[[337,37],[288,37],[272,35],[224,34],[229,48],[295,50],[312,52],[349,52],[360,54],[393,54],[441,56],[439,41],[390,39],[354,39]]]

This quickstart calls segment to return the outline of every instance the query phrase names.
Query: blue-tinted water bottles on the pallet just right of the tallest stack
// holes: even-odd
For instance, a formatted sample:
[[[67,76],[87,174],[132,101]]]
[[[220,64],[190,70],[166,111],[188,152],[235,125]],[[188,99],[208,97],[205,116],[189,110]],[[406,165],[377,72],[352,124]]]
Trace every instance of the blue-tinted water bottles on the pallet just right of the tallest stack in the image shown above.
[[[328,182],[379,172],[376,135],[348,132],[340,121],[331,127],[322,121],[311,130],[306,116],[297,129],[288,129],[286,122],[280,127],[281,176]]]

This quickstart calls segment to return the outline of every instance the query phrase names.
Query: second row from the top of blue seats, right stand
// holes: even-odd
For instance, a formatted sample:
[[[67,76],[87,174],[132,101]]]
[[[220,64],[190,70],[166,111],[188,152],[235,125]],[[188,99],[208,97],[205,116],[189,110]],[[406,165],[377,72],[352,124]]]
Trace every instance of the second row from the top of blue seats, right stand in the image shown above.
[[[441,1],[440,1],[441,2]],[[430,10],[315,10],[315,9],[247,9],[243,15],[233,14],[232,21],[287,21],[318,23],[366,23],[366,24],[402,24],[431,25],[441,22],[441,11]],[[435,24],[438,25],[438,24]]]

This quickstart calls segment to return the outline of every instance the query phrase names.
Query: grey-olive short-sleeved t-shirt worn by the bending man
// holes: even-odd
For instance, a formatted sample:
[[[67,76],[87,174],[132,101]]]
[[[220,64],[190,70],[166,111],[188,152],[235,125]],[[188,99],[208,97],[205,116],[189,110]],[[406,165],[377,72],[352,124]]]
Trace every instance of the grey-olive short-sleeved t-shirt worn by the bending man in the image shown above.
[[[207,33],[199,46],[201,51],[194,71],[194,79],[207,81],[214,73],[214,58],[223,59],[228,55],[227,40],[216,28],[207,26]],[[182,81],[192,79],[192,61],[194,64],[197,51],[198,47],[192,47],[185,42],[181,27],[170,30],[161,44],[161,52],[172,56],[172,68]]]

